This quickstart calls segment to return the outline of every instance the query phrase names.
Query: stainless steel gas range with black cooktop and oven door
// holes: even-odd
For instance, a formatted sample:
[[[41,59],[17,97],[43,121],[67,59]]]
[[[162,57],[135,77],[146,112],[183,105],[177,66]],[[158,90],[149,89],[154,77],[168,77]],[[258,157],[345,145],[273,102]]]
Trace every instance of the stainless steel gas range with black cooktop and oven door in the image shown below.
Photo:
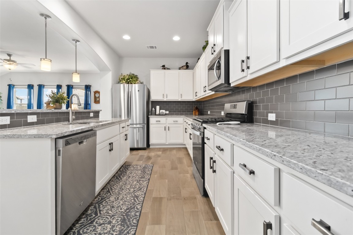
[[[224,112],[226,117],[199,117],[192,119],[191,131],[192,131],[192,173],[196,180],[196,184],[199,188],[201,195],[208,196],[205,189],[204,177],[205,177],[205,137],[204,137],[204,126],[206,123],[219,123],[219,122],[231,122],[238,121],[240,123],[251,123],[252,122],[252,109],[250,104],[251,101],[239,101],[236,103],[225,104]],[[240,124],[241,125],[241,124]]]

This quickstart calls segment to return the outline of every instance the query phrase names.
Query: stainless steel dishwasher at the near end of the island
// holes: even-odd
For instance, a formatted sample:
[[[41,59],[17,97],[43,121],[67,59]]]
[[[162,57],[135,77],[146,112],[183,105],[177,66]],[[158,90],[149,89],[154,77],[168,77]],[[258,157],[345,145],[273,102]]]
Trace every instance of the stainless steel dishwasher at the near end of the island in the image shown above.
[[[56,138],[56,234],[62,235],[95,198],[97,131]]]

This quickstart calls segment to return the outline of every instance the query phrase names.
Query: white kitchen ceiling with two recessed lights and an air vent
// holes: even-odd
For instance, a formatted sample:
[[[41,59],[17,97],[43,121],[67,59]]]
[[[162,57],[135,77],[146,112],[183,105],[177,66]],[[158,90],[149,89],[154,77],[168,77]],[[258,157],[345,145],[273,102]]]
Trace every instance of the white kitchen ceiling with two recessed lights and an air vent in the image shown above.
[[[219,0],[76,0],[67,3],[120,57],[198,58]],[[131,39],[123,39],[129,35]],[[179,36],[179,41],[172,38]],[[156,45],[157,49],[146,49]]]

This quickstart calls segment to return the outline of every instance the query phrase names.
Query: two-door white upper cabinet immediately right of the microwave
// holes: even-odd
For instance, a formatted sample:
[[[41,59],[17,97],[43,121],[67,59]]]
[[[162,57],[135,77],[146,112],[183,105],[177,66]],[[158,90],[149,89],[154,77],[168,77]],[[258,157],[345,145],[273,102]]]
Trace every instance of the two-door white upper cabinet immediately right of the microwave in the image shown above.
[[[230,82],[279,61],[279,13],[279,1],[240,0],[232,4],[229,9]]]

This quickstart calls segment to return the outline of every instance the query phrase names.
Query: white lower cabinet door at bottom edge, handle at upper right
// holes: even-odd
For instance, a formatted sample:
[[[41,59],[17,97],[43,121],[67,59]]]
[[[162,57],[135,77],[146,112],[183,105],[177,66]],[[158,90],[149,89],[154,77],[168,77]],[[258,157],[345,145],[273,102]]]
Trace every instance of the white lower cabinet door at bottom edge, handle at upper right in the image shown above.
[[[234,234],[280,234],[280,216],[243,179],[234,174]]]

